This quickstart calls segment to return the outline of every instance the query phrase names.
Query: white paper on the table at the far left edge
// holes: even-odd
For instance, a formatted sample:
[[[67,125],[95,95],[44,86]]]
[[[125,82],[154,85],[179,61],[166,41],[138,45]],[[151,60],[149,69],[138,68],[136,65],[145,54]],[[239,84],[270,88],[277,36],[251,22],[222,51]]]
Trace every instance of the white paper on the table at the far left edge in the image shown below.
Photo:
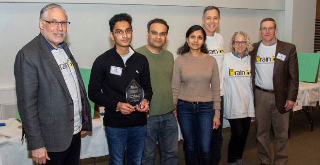
[[[5,123],[5,126],[0,127],[0,135],[4,135],[7,137],[16,137],[22,135],[22,129],[19,128],[19,126],[21,126],[21,123],[19,121],[10,118]]]

